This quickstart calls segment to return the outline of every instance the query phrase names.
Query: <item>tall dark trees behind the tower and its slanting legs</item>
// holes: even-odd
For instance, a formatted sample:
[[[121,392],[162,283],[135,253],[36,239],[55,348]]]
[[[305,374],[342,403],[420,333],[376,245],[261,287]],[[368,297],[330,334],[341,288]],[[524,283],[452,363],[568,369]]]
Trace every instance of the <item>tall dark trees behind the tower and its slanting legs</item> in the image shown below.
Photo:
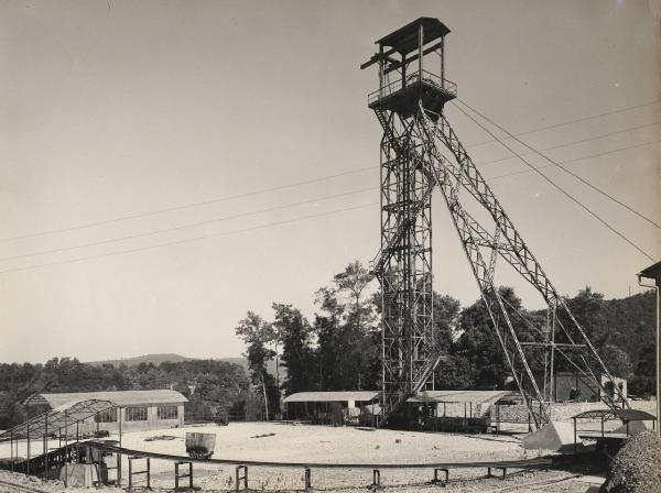
[[[525,309],[511,287],[501,287],[500,295],[519,339],[539,340],[546,311]],[[503,388],[510,372],[484,302],[462,307],[451,296],[433,296],[436,346],[447,354],[436,369],[437,386]],[[317,309],[312,320],[292,305],[274,303],[271,321],[248,311],[236,327],[247,346],[252,386],[270,414],[278,410],[283,393],[380,388],[380,295],[373,277],[353,262],[319,288],[314,299]],[[606,300],[586,287],[565,302],[609,371],[629,380],[631,394],[651,394],[653,294]],[[543,353],[528,351],[532,371],[541,372]],[[267,371],[267,362],[273,359],[277,375]]]

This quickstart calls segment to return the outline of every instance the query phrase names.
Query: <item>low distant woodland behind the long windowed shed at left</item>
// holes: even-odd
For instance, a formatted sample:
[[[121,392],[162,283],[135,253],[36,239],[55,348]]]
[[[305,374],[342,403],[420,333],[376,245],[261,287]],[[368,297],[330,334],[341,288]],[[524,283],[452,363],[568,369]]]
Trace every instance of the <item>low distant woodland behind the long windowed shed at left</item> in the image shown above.
[[[0,429],[24,421],[22,403],[32,394],[171,388],[187,397],[186,421],[260,419],[263,402],[254,397],[246,371],[215,360],[91,365],[75,358],[45,364],[0,364]],[[34,408],[30,417],[37,413]]]

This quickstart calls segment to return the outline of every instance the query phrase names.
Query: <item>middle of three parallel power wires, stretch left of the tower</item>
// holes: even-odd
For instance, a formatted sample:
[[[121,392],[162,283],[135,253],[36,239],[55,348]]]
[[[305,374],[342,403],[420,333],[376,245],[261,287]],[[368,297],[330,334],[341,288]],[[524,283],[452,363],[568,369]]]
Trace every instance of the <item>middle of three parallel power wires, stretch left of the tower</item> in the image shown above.
[[[285,204],[282,206],[274,206],[274,207],[269,207],[267,209],[253,210],[253,211],[249,211],[249,212],[240,212],[240,213],[236,213],[232,216],[224,216],[220,218],[206,219],[204,221],[197,221],[197,222],[193,222],[193,223],[188,223],[188,224],[175,226],[172,228],[162,228],[162,229],[158,229],[158,230],[145,231],[145,232],[138,233],[138,234],[129,234],[127,237],[121,237],[121,238],[111,238],[108,240],[93,241],[89,243],[83,243],[83,244],[77,244],[77,245],[62,246],[62,248],[51,249],[51,250],[42,250],[39,252],[23,253],[20,255],[10,255],[10,256],[4,256],[4,258],[0,259],[0,262],[6,262],[6,261],[10,261],[10,260],[15,260],[15,259],[25,259],[29,256],[45,255],[47,253],[66,252],[68,250],[76,250],[76,249],[82,249],[82,248],[86,248],[86,246],[98,246],[101,244],[109,244],[109,243],[117,243],[120,241],[134,240],[137,238],[144,238],[144,237],[151,237],[154,234],[160,234],[160,233],[165,233],[165,232],[180,231],[183,229],[195,228],[198,226],[212,224],[214,222],[229,221],[231,219],[245,218],[248,216],[257,216],[259,213],[272,212],[275,210],[290,209],[292,207],[303,206],[306,204],[314,204],[314,202],[318,202],[318,201],[323,201],[323,200],[329,200],[333,198],[347,197],[349,195],[361,194],[364,191],[369,191],[369,190],[375,190],[375,189],[377,189],[377,187],[359,188],[357,190],[345,191],[344,194],[327,195],[325,197],[316,197],[316,198],[312,198],[308,200],[302,200],[302,201],[297,201],[297,202],[293,202],[293,204]]]

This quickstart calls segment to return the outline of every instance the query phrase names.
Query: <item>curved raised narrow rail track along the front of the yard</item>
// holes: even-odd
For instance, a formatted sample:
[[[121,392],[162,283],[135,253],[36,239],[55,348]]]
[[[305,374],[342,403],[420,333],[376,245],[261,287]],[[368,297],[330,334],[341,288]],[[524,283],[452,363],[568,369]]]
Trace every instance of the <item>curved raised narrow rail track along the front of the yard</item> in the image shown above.
[[[524,459],[524,460],[502,460],[490,462],[423,462],[423,463],[326,463],[326,462],[274,462],[260,460],[237,460],[237,459],[193,459],[188,456],[174,456],[170,453],[148,452],[144,450],[133,450],[120,448],[107,443],[89,441],[85,443],[99,450],[113,453],[121,453],[132,457],[149,457],[151,459],[164,459],[172,461],[199,462],[213,464],[230,465],[252,465],[264,468],[311,468],[311,469],[486,469],[486,468],[508,468],[508,469],[546,469],[552,464],[550,458]]]

